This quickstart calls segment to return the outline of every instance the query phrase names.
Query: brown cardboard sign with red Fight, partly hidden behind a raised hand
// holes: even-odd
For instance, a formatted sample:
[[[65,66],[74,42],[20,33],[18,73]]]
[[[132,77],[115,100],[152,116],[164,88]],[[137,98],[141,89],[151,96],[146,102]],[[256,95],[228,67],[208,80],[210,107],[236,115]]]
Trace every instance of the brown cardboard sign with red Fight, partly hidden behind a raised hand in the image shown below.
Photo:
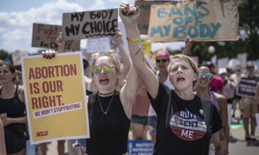
[[[58,46],[56,43],[57,37],[61,32],[60,25],[49,25],[43,23],[33,23],[32,29],[32,47],[36,48],[49,48],[57,50]],[[65,50],[79,51],[80,40],[69,40],[66,41]]]

